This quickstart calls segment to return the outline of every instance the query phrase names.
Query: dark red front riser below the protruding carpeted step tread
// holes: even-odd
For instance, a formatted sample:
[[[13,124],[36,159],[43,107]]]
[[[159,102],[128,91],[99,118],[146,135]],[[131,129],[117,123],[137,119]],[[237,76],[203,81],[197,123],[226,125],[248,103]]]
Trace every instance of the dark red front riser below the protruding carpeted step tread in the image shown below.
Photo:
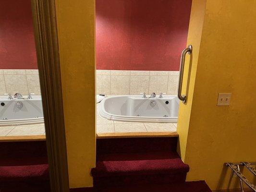
[[[145,184],[170,184],[175,182],[185,182],[186,173],[177,174],[158,174],[158,175],[128,175],[128,176],[112,176],[94,178],[94,187],[114,187],[145,185]]]

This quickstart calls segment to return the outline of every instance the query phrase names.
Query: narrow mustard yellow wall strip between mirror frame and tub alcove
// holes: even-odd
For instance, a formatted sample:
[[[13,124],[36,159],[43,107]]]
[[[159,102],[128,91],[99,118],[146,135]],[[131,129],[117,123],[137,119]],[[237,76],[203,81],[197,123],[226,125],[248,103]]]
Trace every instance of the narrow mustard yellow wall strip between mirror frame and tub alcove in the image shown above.
[[[96,156],[95,1],[55,2],[70,187],[90,187]]]

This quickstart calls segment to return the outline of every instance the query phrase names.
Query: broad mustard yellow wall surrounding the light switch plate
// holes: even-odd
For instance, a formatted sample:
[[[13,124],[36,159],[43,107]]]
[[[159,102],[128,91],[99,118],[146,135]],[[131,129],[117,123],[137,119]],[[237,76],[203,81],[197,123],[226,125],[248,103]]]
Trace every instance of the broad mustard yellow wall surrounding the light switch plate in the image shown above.
[[[187,180],[206,180],[213,190],[238,188],[238,179],[230,178],[231,170],[224,163],[256,159],[256,81],[252,78],[256,73],[256,1],[193,0],[191,20],[198,15],[194,7],[203,1],[206,8],[200,14],[202,33],[197,34],[201,42],[194,95],[189,100],[190,120],[183,124],[180,119],[177,129],[180,135],[188,130],[183,154],[191,168]],[[229,107],[216,106],[218,93],[232,93]],[[180,114],[188,109],[181,107]]]

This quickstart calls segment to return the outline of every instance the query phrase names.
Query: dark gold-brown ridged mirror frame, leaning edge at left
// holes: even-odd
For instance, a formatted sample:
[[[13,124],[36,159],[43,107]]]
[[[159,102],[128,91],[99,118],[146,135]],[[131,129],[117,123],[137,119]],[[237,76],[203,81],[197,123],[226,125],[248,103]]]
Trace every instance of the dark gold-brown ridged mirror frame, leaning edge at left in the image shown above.
[[[32,13],[51,191],[69,192],[55,1],[32,0]]]

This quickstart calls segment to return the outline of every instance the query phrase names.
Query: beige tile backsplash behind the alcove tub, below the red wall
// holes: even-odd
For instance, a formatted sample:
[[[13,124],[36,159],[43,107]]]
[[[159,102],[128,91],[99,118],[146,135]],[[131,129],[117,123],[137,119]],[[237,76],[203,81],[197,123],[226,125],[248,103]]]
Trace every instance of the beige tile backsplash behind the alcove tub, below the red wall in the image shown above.
[[[179,72],[176,71],[96,71],[97,94],[177,94]]]

